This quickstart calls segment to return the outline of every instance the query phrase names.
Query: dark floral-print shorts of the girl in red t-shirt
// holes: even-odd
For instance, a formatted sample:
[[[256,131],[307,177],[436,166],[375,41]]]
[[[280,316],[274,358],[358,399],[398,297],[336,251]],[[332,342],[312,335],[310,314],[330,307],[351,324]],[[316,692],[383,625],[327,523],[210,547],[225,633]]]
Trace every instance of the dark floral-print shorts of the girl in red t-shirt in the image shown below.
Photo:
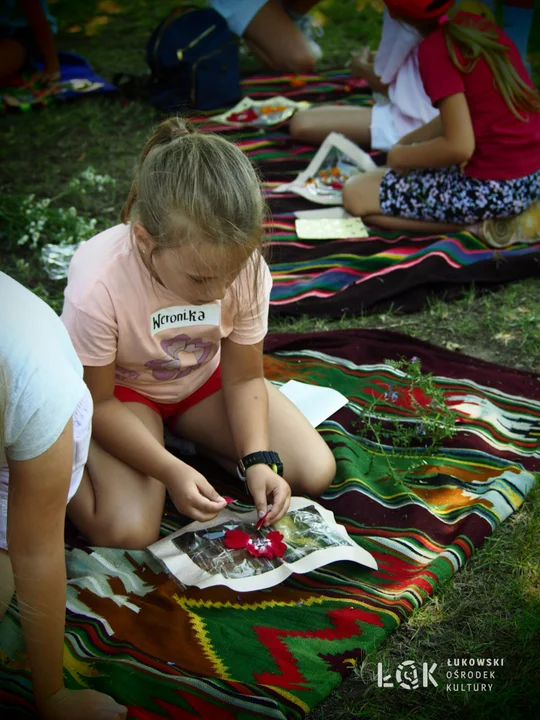
[[[470,225],[520,215],[540,198],[540,170],[514,180],[481,180],[459,166],[388,170],[379,193],[384,215]]]

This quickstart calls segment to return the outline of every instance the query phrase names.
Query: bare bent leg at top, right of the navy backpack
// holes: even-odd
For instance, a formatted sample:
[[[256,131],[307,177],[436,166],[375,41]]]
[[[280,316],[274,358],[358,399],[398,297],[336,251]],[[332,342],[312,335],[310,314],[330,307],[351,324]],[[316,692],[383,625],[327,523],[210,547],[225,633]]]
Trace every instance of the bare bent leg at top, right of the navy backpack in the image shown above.
[[[265,65],[280,72],[312,73],[316,58],[305,35],[278,0],[268,0],[247,26],[244,39]]]

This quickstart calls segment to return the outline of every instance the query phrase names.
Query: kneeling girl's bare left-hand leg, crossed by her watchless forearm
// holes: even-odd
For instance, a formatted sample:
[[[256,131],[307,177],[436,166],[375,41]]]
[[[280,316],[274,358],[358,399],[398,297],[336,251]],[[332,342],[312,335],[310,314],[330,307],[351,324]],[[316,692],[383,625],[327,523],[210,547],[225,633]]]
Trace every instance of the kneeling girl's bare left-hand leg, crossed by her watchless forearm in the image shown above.
[[[140,403],[125,406],[163,444],[159,415]],[[142,475],[92,441],[83,479],[67,512],[92,545],[143,549],[159,537],[164,503],[161,482]]]

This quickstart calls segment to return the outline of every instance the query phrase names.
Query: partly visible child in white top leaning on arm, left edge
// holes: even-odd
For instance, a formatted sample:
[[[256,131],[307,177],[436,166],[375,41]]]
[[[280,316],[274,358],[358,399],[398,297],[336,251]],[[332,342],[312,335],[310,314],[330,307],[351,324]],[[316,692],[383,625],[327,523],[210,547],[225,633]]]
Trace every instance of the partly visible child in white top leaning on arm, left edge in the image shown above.
[[[86,463],[92,398],[48,305],[0,273],[0,307],[0,618],[15,590],[41,717],[120,720],[126,709],[112,698],[68,690],[63,678],[64,521]]]

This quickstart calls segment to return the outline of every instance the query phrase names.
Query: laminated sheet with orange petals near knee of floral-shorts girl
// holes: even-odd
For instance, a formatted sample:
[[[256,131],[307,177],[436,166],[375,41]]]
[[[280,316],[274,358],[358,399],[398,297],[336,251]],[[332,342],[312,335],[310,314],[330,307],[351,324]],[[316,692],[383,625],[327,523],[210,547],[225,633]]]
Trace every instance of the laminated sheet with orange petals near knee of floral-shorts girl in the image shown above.
[[[370,156],[357,145],[340,133],[330,133],[308,167],[274,192],[294,192],[319,205],[341,205],[347,180],[376,169]]]

